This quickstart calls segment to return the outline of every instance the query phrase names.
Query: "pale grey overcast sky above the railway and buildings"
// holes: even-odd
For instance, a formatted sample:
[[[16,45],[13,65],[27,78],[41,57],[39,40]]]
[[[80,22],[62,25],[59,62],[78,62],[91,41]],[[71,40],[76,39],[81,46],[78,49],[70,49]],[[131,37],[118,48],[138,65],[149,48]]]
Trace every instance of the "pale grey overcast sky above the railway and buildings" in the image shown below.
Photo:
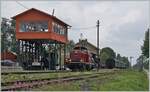
[[[100,20],[100,48],[111,47],[122,56],[141,54],[144,33],[149,26],[148,1],[15,1],[1,2],[1,16],[10,18],[27,8],[37,8],[72,26],[69,39],[78,41],[80,34],[96,45],[96,21]],[[23,7],[22,5],[25,7]]]

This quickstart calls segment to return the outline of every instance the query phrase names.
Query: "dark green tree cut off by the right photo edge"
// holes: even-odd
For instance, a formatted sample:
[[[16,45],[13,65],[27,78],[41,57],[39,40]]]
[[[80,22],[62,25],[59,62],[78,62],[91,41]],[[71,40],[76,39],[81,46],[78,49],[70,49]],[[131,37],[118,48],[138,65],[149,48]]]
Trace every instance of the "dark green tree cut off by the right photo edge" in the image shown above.
[[[142,54],[148,58],[149,57],[149,28],[145,32],[144,44],[141,50],[142,50]]]

